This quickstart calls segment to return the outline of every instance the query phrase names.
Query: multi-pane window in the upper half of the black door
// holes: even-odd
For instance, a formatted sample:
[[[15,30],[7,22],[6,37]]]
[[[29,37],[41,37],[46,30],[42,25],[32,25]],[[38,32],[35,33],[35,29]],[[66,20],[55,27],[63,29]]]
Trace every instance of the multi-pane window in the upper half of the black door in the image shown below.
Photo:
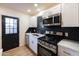
[[[5,34],[17,33],[17,19],[5,18]]]

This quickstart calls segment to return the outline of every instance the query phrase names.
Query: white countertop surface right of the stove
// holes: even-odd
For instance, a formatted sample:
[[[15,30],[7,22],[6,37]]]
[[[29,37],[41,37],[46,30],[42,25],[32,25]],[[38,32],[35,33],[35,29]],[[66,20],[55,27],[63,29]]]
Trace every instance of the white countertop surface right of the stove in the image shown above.
[[[63,39],[58,43],[59,46],[67,47],[79,52],[79,42]]]

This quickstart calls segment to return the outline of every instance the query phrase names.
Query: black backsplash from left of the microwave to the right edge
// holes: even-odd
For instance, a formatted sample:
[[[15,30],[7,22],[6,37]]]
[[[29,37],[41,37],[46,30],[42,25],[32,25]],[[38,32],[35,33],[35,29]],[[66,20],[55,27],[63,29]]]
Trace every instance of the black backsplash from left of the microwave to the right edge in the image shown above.
[[[75,41],[79,41],[79,27],[61,27],[61,26],[50,26],[50,27],[44,27],[41,28],[43,25],[43,20],[42,18],[38,17],[39,20],[37,19],[37,24],[38,24],[38,30],[40,33],[44,34],[45,31],[54,31],[54,32],[67,32],[68,33],[68,37],[63,36],[64,38],[70,39],[70,40],[75,40]],[[42,23],[40,23],[42,22]]]

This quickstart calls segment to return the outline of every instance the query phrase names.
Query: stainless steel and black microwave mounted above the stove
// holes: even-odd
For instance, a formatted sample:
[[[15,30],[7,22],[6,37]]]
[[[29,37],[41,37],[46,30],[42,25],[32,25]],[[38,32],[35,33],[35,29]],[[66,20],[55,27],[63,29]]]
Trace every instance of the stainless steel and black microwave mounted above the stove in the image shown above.
[[[44,25],[61,25],[61,15],[56,14],[53,15],[52,17],[43,19],[43,24]]]

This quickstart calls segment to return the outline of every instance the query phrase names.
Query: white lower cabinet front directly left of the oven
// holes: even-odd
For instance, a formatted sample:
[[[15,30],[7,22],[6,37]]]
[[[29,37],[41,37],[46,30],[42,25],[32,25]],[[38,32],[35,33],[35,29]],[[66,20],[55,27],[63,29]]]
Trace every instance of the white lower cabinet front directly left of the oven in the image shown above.
[[[37,38],[33,35],[30,35],[29,37],[29,47],[37,54]]]

